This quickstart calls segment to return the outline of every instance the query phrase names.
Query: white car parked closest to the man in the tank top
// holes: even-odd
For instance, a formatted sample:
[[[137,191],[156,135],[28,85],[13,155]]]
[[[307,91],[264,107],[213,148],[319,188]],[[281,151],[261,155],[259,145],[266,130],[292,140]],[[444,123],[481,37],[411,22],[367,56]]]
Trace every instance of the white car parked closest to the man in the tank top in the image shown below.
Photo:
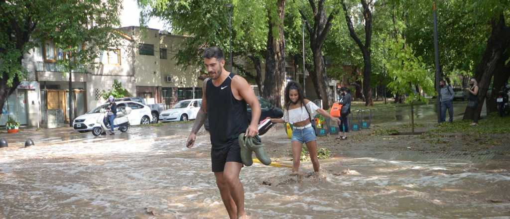
[[[202,106],[202,99],[181,100],[172,108],[162,111],[159,120],[161,122],[170,122],[195,119],[200,106]]]

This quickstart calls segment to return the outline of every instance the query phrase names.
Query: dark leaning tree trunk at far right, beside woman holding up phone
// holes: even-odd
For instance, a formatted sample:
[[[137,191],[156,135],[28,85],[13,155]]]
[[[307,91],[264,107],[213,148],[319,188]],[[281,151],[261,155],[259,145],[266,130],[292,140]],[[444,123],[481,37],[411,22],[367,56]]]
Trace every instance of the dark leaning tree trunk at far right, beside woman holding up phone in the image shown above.
[[[463,119],[473,119],[472,111],[474,115],[479,117],[482,110],[483,101],[486,98],[487,90],[491,83],[494,71],[503,58],[504,49],[507,48],[510,43],[510,28],[506,27],[503,14],[497,18],[493,18],[491,21],[492,32],[491,36],[487,40],[487,47],[483,53],[481,62],[478,64],[475,71],[475,79],[478,83],[478,107],[476,109],[466,107]]]

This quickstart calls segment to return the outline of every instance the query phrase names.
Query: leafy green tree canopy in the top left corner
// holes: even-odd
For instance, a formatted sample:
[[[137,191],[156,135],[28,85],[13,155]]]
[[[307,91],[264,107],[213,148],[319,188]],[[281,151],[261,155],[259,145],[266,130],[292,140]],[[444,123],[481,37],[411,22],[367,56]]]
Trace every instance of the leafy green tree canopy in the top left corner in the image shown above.
[[[27,76],[23,55],[43,40],[71,54],[67,69],[94,60],[119,25],[121,0],[0,0],[0,108]],[[85,45],[85,46],[82,46]]]

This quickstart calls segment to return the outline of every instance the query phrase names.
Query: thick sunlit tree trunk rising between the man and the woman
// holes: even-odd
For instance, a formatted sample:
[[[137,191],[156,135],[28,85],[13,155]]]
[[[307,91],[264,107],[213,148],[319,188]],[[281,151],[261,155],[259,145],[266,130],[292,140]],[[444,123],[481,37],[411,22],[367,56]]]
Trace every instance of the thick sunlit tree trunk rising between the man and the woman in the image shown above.
[[[264,79],[263,97],[273,105],[282,108],[282,97],[285,87],[285,36],[283,20],[285,18],[285,0],[276,3],[278,17],[271,16],[268,9],[269,31],[267,34],[266,76]],[[273,33],[273,25],[277,25],[278,33]]]

